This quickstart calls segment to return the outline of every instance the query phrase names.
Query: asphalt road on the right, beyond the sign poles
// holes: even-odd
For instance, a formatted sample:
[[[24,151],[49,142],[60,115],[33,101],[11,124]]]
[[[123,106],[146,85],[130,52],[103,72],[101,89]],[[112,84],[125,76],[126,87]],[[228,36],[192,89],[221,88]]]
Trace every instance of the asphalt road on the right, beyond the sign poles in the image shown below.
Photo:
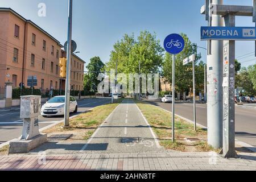
[[[147,101],[148,103],[171,111],[170,103]],[[177,102],[175,114],[193,121],[193,104]],[[197,123],[207,127],[207,105],[196,105]],[[236,106],[236,139],[256,147],[256,104]]]

